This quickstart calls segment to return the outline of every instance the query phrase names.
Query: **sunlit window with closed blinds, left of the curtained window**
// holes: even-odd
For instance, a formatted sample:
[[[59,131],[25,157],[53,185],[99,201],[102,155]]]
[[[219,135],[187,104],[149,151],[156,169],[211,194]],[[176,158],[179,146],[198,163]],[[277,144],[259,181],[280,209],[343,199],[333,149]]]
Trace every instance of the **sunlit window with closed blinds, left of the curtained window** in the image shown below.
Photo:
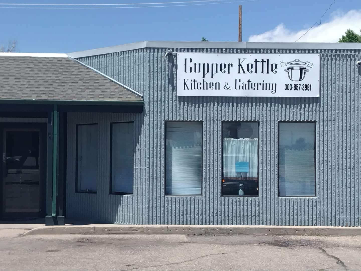
[[[202,194],[202,123],[166,122],[166,195]]]

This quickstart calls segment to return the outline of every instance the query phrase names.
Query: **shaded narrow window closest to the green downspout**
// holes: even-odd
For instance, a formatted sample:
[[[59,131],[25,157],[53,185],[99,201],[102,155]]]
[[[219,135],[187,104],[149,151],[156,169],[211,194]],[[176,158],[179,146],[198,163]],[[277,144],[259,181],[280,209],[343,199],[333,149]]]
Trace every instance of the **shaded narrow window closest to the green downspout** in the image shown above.
[[[95,193],[98,173],[98,125],[77,125],[76,192]]]

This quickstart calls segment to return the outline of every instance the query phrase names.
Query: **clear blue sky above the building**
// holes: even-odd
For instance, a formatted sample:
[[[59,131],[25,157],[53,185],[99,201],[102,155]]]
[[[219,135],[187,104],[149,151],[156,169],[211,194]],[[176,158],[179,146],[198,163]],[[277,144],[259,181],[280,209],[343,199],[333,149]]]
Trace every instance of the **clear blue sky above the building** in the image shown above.
[[[6,1],[6,3],[113,4],[168,1],[17,0]],[[143,40],[197,41],[204,36],[211,41],[237,41],[239,4],[243,5],[244,41],[248,41],[252,35],[255,35],[253,36],[255,41],[288,41],[287,38],[292,39],[319,20],[332,1],[261,0],[245,3],[134,9],[0,8],[0,44],[16,39],[20,52],[66,53]],[[356,15],[347,13],[350,10],[356,10]],[[357,17],[356,21],[353,21],[352,17],[358,15],[360,18]],[[361,23],[359,24],[361,1],[336,0],[323,21],[332,22],[335,17],[343,20],[345,25],[336,22],[334,25],[326,25],[328,29],[336,27],[335,25],[338,25],[342,31],[344,31],[343,27],[348,27],[348,25],[361,29]],[[324,33],[325,29],[319,28],[319,32]],[[279,35],[279,40],[275,39],[277,35]],[[313,41],[312,36],[316,34],[311,32],[310,39],[300,41]],[[327,36],[325,36],[325,41],[329,41],[326,38]]]

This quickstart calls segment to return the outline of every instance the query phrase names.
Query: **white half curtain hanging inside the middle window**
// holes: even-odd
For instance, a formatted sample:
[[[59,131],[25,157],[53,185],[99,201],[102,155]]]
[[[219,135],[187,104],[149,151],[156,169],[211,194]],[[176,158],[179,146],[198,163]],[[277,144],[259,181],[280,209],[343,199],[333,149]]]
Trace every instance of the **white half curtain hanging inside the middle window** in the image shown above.
[[[223,173],[225,177],[239,177],[236,163],[248,162],[249,172],[242,177],[258,177],[258,138],[223,139]]]

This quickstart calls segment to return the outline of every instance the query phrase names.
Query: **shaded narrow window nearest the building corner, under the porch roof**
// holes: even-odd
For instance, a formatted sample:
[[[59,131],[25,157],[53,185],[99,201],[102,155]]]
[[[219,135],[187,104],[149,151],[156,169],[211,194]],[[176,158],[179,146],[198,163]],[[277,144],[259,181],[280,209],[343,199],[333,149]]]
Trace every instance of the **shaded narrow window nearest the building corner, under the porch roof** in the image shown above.
[[[134,122],[110,125],[110,193],[133,194]]]

